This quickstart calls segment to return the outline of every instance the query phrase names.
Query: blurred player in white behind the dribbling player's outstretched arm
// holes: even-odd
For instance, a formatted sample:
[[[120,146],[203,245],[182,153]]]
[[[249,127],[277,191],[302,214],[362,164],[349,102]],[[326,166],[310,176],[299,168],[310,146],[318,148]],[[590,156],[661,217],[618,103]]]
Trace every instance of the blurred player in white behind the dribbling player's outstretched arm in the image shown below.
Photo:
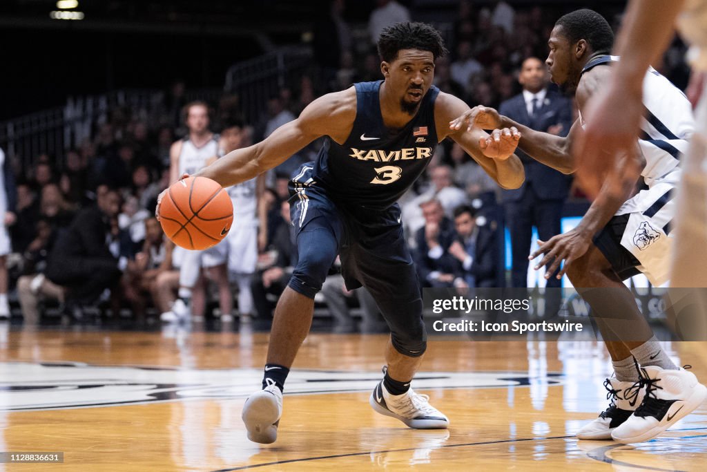
[[[218,157],[243,147],[245,129],[238,120],[230,120],[221,130]],[[209,159],[207,165],[216,161]],[[226,188],[233,203],[233,225],[226,238],[216,248],[226,253],[228,277],[238,284],[238,311],[240,321],[248,322],[253,312],[253,296],[250,280],[258,261],[258,231],[266,231],[267,225],[259,225],[262,209],[260,200],[265,188],[265,174]],[[229,321],[230,313],[223,313],[221,319]]]

